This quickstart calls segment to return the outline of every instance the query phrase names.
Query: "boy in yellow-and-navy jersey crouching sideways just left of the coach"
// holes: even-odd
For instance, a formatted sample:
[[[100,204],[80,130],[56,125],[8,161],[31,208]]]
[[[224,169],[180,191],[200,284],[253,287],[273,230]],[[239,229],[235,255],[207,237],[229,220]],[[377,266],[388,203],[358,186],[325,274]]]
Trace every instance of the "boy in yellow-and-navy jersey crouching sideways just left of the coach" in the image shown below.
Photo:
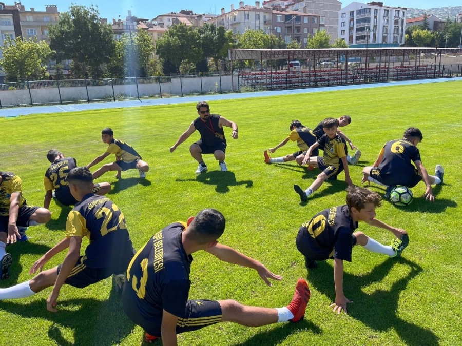
[[[101,131],[101,139],[103,140],[103,143],[108,144],[109,147],[103,155],[100,155],[91,161],[87,165],[87,168],[91,168],[98,164],[110,154],[115,155],[115,162],[104,165],[100,169],[94,171],[93,179],[97,179],[109,171],[117,171],[117,175],[115,177],[120,179],[122,177],[121,171],[134,168],[138,169],[140,172],[140,178],[146,178],[146,172],[149,171],[148,164],[141,159],[140,154],[138,154],[137,151],[134,150],[128,143],[124,143],[119,139],[114,139],[114,132],[112,129],[108,127],[103,129],[103,131]]]

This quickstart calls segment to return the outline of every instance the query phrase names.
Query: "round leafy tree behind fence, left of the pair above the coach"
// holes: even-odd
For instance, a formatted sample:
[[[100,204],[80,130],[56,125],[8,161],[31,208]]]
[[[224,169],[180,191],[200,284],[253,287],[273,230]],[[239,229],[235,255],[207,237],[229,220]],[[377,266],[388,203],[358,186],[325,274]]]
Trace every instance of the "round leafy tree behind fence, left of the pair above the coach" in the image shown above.
[[[156,52],[164,60],[164,72],[179,72],[184,60],[192,64],[201,60],[199,32],[184,23],[171,26],[157,40]]]

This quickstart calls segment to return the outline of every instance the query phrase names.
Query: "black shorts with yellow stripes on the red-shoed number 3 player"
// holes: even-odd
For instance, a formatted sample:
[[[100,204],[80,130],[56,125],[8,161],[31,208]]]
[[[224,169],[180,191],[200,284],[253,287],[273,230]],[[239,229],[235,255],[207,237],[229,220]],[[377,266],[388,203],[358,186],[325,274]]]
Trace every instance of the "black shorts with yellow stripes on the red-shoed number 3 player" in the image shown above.
[[[148,334],[161,337],[162,318],[146,319],[132,308],[124,309],[127,316]],[[158,315],[161,315],[158,314]],[[192,332],[221,321],[221,306],[216,300],[188,300],[183,317],[178,318],[177,334]]]

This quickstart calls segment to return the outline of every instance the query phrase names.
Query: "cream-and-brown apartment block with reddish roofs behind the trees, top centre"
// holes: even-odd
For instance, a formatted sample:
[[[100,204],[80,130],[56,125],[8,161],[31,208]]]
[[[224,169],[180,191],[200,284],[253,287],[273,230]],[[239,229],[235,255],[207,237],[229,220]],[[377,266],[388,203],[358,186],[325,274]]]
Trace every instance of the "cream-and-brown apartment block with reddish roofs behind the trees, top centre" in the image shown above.
[[[255,6],[244,5],[241,1],[239,8],[235,9],[231,5],[229,12],[222,8],[220,15],[207,21],[232,30],[234,34],[261,29],[268,35],[283,38],[286,43],[296,40],[302,48],[306,47],[308,37],[313,36],[317,30],[323,30],[320,22],[319,15],[288,11],[281,5],[261,7],[259,1],[255,2]]]

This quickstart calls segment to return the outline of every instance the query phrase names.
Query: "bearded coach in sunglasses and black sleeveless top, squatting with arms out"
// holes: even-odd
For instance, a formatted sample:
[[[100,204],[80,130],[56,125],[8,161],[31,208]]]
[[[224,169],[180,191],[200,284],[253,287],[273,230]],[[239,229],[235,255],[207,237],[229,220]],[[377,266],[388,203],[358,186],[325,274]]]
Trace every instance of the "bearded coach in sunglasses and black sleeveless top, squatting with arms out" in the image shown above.
[[[202,159],[202,154],[214,154],[222,171],[227,171],[225,164],[226,138],[223,126],[233,129],[232,137],[238,138],[238,128],[234,121],[229,121],[220,114],[210,114],[210,106],[205,101],[198,102],[196,105],[199,117],[192,121],[189,128],[184,132],[177,143],[170,148],[170,153],[174,152],[194,131],[198,130],[201,138],[189,147],[191,156],[199,162],[196,174],[205,172],[207,165]]]

